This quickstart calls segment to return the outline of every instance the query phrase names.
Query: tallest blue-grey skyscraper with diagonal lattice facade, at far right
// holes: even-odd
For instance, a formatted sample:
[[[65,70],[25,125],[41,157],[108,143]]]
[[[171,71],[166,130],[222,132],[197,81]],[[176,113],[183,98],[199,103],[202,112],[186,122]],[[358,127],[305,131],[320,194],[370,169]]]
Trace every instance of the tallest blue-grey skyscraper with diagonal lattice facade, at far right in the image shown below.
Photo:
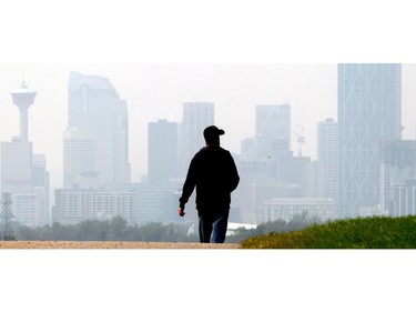
[[[381,144],[400,138],[400,64],[338,64],[338,212],[379,204]]]

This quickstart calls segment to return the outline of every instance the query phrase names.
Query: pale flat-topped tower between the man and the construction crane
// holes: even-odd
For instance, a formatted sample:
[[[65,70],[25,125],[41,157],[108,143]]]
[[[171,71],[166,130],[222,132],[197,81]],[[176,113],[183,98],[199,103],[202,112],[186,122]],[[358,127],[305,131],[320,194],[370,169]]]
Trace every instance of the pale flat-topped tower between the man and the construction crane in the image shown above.
[[[291,107],[256,105],[255,135],[257,157],[271,159],[277,151],[291,149]]]

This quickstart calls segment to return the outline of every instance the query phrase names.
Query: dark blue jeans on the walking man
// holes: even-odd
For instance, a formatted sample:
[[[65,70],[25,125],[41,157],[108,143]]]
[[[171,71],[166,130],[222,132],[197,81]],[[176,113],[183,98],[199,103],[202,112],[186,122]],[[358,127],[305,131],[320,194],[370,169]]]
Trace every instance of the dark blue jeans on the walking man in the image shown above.
[[[197,209],[200,242],[223,243],[225,241],[229,214],[230,207],[214,212],[209,209]]]

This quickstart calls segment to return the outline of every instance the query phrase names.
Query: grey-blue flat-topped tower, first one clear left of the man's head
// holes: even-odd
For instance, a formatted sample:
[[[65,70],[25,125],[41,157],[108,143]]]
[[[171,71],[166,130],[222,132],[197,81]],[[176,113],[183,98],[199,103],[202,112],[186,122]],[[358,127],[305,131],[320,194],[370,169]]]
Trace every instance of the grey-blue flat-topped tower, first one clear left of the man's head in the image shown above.
[[[168,120],[149,123],[149,182],[177,178],[177,124]]]

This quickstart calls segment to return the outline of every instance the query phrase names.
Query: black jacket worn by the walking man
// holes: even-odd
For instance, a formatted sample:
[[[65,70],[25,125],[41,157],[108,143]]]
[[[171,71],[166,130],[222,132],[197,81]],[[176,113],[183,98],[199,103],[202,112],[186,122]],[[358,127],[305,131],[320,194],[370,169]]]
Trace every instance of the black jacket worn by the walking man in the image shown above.
[[[240,182],[233,157],[221,147],[205,147],[192,159],[180,198],[184,208],[196,187],[196,209],[215,210],[229,208],[231,192]]]

